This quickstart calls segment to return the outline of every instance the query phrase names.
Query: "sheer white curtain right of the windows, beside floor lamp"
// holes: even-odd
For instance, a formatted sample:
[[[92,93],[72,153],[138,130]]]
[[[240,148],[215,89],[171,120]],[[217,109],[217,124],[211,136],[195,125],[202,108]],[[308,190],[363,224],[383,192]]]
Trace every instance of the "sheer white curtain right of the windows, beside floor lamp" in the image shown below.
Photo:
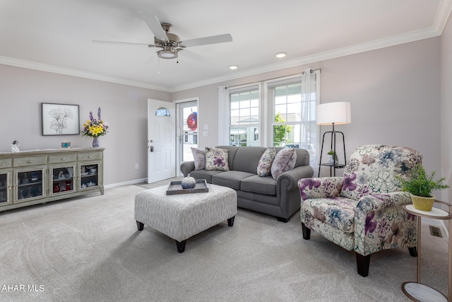
[[[320,70],[313,71],[309,68],[302,72],[302,131],[301,141],[314,146],[311,154],[311,167],[319,170],[319,143],[320,129],[316,124],[316,105],[320,103]]]

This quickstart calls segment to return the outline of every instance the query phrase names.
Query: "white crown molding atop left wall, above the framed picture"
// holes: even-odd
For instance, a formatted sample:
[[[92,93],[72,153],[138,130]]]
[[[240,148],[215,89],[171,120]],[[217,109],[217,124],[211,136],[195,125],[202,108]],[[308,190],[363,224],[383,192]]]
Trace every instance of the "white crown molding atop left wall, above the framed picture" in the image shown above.
[[[69,69],[65,67],[59,67],[54,65],[42,64],[37,62],[26,61],[23,59],[15,59],[11,57],[0,56],[0,64],[11,65],[16,67],[22,67],[26,69],[35,69],[39,71],[52,72],[54,74],[64,74],[66,76],[77,76],[79,78],[92,79],[98,81],[104,81],[109,83],[117,83],[128,86],[135,86],[140,88],[148,88],[157,91],[172,92],[172,89],[167,86],[157,86],[150,83],[131,81],[128,79],[121,79],[114,76],[106,76],[104,74],[95,74],[93,72],[81,71],[77,69]]]

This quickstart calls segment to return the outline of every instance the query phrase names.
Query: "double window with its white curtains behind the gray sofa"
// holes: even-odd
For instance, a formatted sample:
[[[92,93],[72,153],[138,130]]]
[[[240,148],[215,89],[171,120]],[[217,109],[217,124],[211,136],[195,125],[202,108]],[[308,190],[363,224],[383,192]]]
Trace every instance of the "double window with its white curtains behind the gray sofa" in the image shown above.
[[[235,146],[307,149],[311,166],[319,168],[319,83],[320,69],[306,69],[297,76],[248,86],[220,86],[218,141]]]

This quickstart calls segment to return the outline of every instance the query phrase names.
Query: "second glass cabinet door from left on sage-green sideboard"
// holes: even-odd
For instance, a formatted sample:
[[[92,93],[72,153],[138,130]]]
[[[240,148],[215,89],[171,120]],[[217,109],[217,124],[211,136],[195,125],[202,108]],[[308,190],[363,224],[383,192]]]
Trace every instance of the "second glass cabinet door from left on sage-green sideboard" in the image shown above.
[[[30,170],[17,170],[15,173],[15,193],[17,202],[45,197],[44,182],[46,167],[33,167]]]

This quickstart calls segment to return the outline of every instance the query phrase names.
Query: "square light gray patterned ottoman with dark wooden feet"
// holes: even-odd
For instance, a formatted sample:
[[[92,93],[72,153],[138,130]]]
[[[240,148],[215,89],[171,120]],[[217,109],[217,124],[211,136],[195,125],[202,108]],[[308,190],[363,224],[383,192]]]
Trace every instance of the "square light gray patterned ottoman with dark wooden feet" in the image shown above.
[[[229,187],[208,185],[209,192],[167,195],[167,186],[145,190],[135,196],[138,231],[144,224],[176,240],[184,252],[186,240],[227,220],[233,226],[237,214],[237,192]]]

